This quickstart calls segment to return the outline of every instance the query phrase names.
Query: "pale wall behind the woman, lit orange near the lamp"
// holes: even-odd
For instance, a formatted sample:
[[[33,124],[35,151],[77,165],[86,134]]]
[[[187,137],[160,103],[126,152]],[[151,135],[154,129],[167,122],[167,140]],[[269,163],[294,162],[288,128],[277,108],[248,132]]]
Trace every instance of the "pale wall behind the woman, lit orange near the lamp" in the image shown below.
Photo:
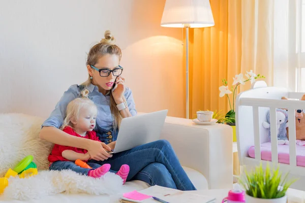
[[[183,117],[181,29],[160,26],[165,0],[0,0],[0,112],[47,117],[87,78],[86,52],[110,29],[137,110]]]

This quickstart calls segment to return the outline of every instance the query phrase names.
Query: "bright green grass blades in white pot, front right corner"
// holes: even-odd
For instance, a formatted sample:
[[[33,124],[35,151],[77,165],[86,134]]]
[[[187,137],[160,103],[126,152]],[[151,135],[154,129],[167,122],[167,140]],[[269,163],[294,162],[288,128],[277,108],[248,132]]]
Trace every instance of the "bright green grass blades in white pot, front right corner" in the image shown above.
[[[256,166],[255,171],[249,174],[245,170],[245,175],[239,179],[239,183],[245,188],[246,193],[252,197],[262,199],[275,199],[285,196],[289,186],[296,180],[287,182],[288,173],[282,178],[279,166],[270,171],[267,163],[266,169],[262,167],[262,163]]]

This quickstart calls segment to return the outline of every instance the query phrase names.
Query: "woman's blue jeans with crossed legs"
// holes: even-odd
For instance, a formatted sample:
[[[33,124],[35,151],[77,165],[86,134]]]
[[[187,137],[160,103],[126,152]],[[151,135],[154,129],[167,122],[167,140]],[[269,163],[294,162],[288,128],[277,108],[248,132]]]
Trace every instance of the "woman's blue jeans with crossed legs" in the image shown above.
[[[91,159],[88,162],[100,165],[109,163],[113,171],[118,171],[121,165],[128,164],[130,172],[127,181],[141,180],[151,186],[196,190],[180,165],[172,146],[166,140],[158,140],[115,153],[105,161]]]

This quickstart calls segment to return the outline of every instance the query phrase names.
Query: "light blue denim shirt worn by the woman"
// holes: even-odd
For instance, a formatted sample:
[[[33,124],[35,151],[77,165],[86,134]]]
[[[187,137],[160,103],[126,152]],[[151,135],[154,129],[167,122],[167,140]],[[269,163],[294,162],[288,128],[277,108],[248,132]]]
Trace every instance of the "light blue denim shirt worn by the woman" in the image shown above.
[[[102,142],[106,142],[106,144],[115,141],[118,130],[113,129],[114,117],[110,111],[110,95],[102,94],[99,92],[99,88],[93,84],[90,84],[87,89],[89,90],[88,98],[93,100],[95,105],[98,107],[97,126],[95,128],[97,135],[99,136],[100,140]],[[60,128],[60,126],[62,126],[64,123],[68,104],[73,99],[79,97],[79,95],[80,86],[70,86],[69,89],[64,92],[64,95],[56,104],[55,109],[52,111],[49,118],[43,122],[42,126],[53,126]],[[131,89],[127,87],[124,95],[131,115],[137,115]]]

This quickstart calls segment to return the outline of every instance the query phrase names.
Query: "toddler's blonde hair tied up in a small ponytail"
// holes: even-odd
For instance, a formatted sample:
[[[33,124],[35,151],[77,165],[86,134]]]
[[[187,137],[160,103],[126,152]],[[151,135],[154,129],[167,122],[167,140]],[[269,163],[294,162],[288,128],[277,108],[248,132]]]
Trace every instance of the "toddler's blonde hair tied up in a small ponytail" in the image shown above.
[[[89,106],[97,109],[97,106],[94,104],[94,102],[87,97],[88,93],[89,90],[84,89],[80,92],[80,97],[70,101],[70,103],[67,106],[66,118],[64,120],[64,124],[62,125],[62,127],[60,127],[60,129],[63,130],[67,126],[74,128],[74,124],[72,123],[72,120],[78,119],[79,111],[82,107]]]

